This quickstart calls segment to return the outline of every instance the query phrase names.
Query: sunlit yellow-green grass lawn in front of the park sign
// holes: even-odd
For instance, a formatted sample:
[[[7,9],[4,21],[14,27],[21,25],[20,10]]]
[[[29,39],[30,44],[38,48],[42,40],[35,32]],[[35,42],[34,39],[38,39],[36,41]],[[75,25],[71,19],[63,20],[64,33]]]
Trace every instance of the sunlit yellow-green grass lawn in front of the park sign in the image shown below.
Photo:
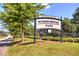
[[[18,40],[16,40],[18,42]],[[8,46],[8,56],[79,56],[79,43],[56,42],[25,38],[23,44]]]

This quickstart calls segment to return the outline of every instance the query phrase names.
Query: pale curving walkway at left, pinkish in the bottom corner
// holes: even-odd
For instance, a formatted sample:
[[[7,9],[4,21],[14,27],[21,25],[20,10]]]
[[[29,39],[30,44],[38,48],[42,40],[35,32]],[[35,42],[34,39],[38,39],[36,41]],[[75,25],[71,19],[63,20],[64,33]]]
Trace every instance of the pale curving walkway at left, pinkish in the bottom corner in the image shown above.
[[[5,56],[7,52],[7,45],[11,43],[12,36],[8,35],[7,37],[0,39],[0,56]]]

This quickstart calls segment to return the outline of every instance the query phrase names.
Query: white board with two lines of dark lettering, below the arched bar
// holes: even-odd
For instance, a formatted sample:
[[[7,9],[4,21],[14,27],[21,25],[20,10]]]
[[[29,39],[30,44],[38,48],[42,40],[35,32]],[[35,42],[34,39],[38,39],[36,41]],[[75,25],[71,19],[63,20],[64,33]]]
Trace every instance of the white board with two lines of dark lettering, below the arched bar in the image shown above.
[[[61,30],[61,21],[56,19],[36,19],[36,29],[46,28]]]

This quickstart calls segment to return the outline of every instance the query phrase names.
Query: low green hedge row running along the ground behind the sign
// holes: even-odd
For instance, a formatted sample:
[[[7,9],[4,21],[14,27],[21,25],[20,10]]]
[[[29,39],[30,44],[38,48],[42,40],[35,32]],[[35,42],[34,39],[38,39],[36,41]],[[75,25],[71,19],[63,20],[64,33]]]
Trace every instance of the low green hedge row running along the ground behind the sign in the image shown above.
[[[28,38],[34,39],[34,36],[28,36]],[[36,36],[36,39],[40,39],[40,36]],[[50,40],[50,41],[61,41],[60,37],[53,37],[53,36],[43,36],[43,40]],[[79,42],[79,38],[72,38],[72,37],[63,37],[63,42]]]

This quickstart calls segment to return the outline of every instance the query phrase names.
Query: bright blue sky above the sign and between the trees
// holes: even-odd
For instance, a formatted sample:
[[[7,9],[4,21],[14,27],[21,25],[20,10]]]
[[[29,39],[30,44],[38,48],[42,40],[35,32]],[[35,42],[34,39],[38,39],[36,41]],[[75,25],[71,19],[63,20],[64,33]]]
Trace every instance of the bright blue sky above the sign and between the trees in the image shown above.
[[[47,6],[44,10],[41,10],[41,13],[48,16],[67,17],[71,19],[77,7],[79,7],[79,3],[53,3],[52,5]],[[3,10],[2,4],[0,4],[0,11]],[[1,24],[0,28],[2,28]]]

